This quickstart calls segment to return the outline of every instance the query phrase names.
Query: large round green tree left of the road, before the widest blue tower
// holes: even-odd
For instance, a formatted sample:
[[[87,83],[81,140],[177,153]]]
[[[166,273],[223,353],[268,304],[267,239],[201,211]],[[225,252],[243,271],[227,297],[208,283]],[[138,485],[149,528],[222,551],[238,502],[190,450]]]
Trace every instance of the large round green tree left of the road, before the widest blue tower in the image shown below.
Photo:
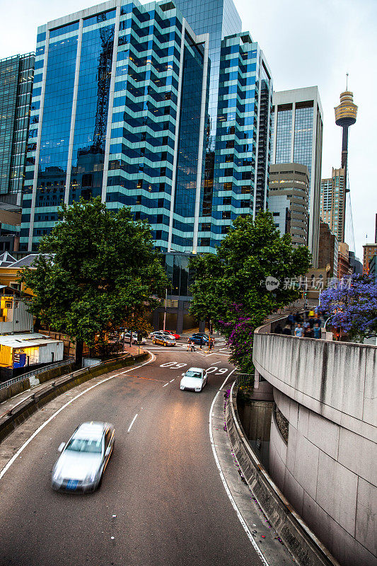
[[[153,310],[165,294],[166,274],[151,227],[129,208],[114,213],[97,197],[59,209],[60,221],[42,238],[36,269],[21,281],[35,293],[31,311],[45,325],[93,348],[123,320]]]

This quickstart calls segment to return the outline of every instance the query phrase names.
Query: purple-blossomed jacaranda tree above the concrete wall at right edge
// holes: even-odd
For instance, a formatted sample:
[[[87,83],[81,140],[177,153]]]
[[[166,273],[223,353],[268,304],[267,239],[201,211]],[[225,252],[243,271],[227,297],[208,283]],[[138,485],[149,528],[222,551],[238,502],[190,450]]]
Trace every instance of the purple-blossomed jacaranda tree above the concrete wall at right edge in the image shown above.
[[[377,335],[377,284],[370,277],[354,274],[328,287],[320,294],[320,306],[351,340]]]

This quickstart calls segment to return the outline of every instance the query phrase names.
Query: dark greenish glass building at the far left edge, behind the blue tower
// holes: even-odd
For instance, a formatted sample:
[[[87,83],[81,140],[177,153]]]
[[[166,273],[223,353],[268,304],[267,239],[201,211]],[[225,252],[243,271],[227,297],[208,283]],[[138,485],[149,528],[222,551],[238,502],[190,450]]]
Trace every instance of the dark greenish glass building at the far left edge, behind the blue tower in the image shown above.
[[[0,198],[12,204],[21,204],[34,62],[34,53],[0,60]]]

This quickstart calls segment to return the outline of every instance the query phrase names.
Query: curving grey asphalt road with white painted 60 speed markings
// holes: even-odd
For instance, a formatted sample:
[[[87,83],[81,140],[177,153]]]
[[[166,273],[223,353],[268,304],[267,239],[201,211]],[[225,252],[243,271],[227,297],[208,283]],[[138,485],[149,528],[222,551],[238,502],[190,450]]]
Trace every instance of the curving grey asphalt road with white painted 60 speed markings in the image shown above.
[[[211,402],[233,367],[218,353],[155,347],[153,354],[154,362],[64,408],[5,473],[1,566],[262,564],[231,507],[209,439]],[[211,366],[202,393],[179,389],[190,366]],[[100,490],[53,492],[57,447],[85,420],[115,425]]]

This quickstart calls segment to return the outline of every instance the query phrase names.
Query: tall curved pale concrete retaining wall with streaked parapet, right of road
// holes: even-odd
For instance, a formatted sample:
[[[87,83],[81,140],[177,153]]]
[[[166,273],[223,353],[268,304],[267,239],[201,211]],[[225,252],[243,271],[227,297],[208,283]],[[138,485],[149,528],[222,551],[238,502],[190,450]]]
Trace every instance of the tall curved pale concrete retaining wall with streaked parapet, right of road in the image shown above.
[[[376,565],[377,348],[256,333],[253,356],[289,421],[274,482],[342,566]]]

